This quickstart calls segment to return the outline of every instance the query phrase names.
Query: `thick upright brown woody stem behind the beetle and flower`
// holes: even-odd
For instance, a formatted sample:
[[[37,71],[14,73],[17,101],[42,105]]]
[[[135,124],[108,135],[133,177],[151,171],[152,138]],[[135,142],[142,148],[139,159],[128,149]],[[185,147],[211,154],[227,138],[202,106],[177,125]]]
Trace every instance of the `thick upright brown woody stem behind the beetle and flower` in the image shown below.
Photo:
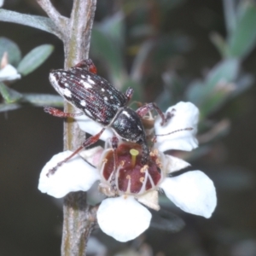
[[[73,10],[64,39],[65,68],[73,67],[88,58],[90,33],[96,10],[96,0],[74,0]],[[65,103],[67,113],[74,113],[73,107]],[[64,148],[74,150],[84,141],[84,132],[73,119],[64,124]],[[86,170],[84,170],[86,172]],[[84,256],[86,244],[94,225],[96,212],[90,212],[86,204],[86,193],[70,193],[64,198],[61,256]]]

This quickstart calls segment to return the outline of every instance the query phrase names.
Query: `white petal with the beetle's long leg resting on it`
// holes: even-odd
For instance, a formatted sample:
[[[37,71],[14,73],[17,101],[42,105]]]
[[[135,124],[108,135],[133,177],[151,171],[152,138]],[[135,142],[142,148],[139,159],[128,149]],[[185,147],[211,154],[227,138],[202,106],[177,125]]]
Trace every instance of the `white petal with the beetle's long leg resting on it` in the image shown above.
[[[69,192],[87,191],[91,185],[100,179],[96,168],[86,163],[78,154],[67,163],[60,166],[54,174],[47,177],[49,169],[56,166],[58,162],[67,158],[71,151],[55,154],[44,166],[40,177],[38,189],[56,198],[63,197]]]

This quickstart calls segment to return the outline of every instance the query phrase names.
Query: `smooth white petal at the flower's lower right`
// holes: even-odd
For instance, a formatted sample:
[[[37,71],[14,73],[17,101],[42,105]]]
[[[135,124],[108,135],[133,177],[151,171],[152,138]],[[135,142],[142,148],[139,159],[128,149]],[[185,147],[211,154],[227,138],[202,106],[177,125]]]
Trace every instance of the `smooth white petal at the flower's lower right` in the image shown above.
[[[217,205],[212,180],[201,171],[185,172],[177,177],[166,177],[160,188],[184,212],[210,218]]]

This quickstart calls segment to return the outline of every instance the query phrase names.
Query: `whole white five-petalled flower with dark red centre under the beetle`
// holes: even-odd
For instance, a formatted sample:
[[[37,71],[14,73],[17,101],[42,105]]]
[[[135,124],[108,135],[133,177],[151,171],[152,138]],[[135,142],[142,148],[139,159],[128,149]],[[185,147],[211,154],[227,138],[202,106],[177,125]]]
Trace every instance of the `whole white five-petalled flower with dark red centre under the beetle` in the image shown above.
[[[66,151],[55,155],[44,166],[38,189],[61,197],[72,191],[87,191],[92,183],[99,180],[99,188],[107,198],[98,208],[98,224],[106,234],[118,241],[132,240],[148,229],[151,213],[147,207],[160,209],[159,189],[163,189],[166,196],[183,211],[210,218],[217,204],[212,180],[201,171],[185,172],[172,177],[173,172],[189,166],[189,163],[161,152],[169,149],[191,150],[197,147],[195,132],[198,109],[192,103],[180,102],[168,108],[167,112],[172,113],[172,118],[164,126],[160,125],[160,119],[157,118],[154,130],[156,134],[168,135],[157,137],[148,165],[142,166],[140,163],[139,145],[121,143],[117,149],[117,163],[113,160],[112,148],[92,148],[81,154],[90,164],[76,156],[48,177],[46,174],[49,169],[70,154]],[[90,121],[85,119],[83,122],[88,124]],[[91,121],[89,125],[92,134],[101,129],[92,129],[91,125],[95,125],[95,122]],[[80,127],[83,125],[80,124]],[[177,131],[185,128],[193,130]],[[129,153],[131,148],[138,152],[134,161]]]

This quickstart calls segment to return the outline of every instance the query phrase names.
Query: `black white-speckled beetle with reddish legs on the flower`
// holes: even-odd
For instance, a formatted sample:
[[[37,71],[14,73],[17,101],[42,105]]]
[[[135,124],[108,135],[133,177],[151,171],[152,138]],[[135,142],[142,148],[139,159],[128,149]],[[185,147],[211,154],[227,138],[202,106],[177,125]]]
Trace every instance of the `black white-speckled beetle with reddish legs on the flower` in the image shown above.
[[[101,131],[87,138],[73,154],[49,170],[49,174],[53,174],[58,166],[67,162],[83,148],[96,143],[106,128],[111,128],[115,134],[111,139],[113,150],[118,147],[119,138],[127,142],[138,143],[142,147],[142,165],[148,163],[150,150],[142,118],[149,111],[156,110],[162,119],[161,125],[164,125],[171,118],[170,114],[167,113],[165,116],[154,102],[145,104],[143,107],[138,108],[137,111],[129,108],[128,103],[131,100],[133,90],[128,88],[125,93],[117,90],[106,79],[96,74],[96,66],[90,59],[81,61],[68,70],[57,69],[50,71],[49,81],[67,102],[71,103],[75,108],[79,108],[90,119],[102,125]],[[63,118],[82,114],[65,113],[51,107],[44,107],[44,111]]]

